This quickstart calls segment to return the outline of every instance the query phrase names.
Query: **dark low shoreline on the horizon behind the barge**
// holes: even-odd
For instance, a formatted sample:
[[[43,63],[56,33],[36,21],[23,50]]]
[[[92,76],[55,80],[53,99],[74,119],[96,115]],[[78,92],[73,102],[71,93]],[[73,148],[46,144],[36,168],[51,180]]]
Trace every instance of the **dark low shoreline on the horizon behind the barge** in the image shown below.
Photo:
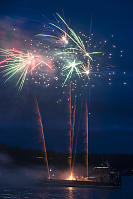
[[[12,162],[0,161],[0,166],[41,166],[45,164],[45,153],[43,150],[23,149],[0,144],[0,154],[6,154]],[[48,151],[48,162],[50,166],[57,169],[68,169],[68,153]],[[75,166],[85,166],[85,154],[73,154]],[[113,169],[120,171],[122,175],[133,175],[133,154],[89,154],[89,166],[104,165],[108,162]]]

